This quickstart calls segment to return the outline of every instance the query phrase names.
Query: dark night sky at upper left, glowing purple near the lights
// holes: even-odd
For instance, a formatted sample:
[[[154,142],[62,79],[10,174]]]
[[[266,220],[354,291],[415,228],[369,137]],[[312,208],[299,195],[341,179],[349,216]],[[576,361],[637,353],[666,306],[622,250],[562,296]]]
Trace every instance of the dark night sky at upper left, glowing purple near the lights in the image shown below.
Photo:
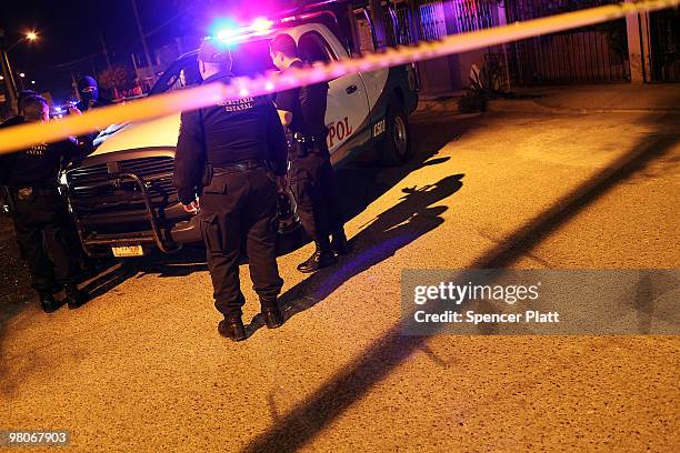
[[[6,48],[28,30],[37,30],[40,36],[36,42],[21,42],[9,54],[14,70],[26,72],[26,88],[30,80],[36,80],[33,88],[38,91],[51,91],[56,98],[63,98],[71,90],[71,71],[78,76],[106,69],[100,33],[113,64],[131,66],[130,54],[142,54],[131,0],[0,2],[0,29],[6,33]],[[276,2],[286,1],[259,1],[257,8],[276,10],[277,6],[272,4]],[[207,34],[214,16],[261,13],[243,11],[252,8],[252,2],[239,0],[137,0],[137,6],[144,33],[150,33],[147,40],[151,52],[177,37]]]

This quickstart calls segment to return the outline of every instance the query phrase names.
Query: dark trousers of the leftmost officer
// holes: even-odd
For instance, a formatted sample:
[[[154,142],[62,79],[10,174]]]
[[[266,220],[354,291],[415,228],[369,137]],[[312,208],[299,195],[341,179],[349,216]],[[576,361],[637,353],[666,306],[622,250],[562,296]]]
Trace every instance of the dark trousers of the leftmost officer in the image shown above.
[[[74,283],[78,266],[69,249],[68,211],[54,189],[41,191],[26,200],[13,193],[14,231],[31,274],[31,286],[39,292],[51,292],[56,283]]]

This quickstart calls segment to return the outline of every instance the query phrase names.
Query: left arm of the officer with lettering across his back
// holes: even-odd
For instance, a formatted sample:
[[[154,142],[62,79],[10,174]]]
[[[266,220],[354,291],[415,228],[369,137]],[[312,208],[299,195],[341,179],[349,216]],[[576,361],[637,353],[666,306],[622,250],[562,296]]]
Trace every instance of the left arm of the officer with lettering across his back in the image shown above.
[[[199,111],[182,112],[174,153],[173,183],[180,202],[196,201],[206,162],[206,140]]]

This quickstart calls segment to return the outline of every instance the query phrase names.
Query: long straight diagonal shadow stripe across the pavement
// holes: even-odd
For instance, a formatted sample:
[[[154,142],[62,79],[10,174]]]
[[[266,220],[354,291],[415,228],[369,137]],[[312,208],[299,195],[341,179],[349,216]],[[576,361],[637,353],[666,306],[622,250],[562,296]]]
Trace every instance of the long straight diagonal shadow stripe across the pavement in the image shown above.
[[[667,154],[680,140],[677,117],[650,114],[648,121],[659,125],[658,130],[648,134],[599,174],[557,200],[548,210],[531,219],[506,238],[496,250],[480,256],[469,268],[501,269],[511,265],[583,208],[634,173],[644,171],[650,161]],[[319,295],[326,293],[323,288],[321,284],[316,285]],[[284,294],[287,300],[291,296],[292,294],[290,296],[288,293]],[[310,303],[314,303],[314,299],[316,296],[309,299]],[[306,302],[298,303],[304,306]],[[292,306],[294,308],[294,304]],[[427,336],[403,336],[401,323],[397,323],[367,348],[358,360],[343,366],[307,401],[279,417],[269,431],[253,439],[243,451],[254,453],[299,450],[390,374],[404,359],[423,349],[427,339]]]

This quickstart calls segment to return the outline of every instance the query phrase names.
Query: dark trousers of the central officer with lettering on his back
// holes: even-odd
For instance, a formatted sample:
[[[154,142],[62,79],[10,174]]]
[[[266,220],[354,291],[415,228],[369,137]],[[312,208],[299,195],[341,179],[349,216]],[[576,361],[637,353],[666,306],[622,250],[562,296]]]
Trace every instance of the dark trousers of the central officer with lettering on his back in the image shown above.
[[[216,171],[201,195],[201,235],[214,290],[214,306],[226,318],[240,315],[246,299],[239,282],[243,240],[250,278],[262,308],[281,292],[276,254],[277,187],[263,168]]]

